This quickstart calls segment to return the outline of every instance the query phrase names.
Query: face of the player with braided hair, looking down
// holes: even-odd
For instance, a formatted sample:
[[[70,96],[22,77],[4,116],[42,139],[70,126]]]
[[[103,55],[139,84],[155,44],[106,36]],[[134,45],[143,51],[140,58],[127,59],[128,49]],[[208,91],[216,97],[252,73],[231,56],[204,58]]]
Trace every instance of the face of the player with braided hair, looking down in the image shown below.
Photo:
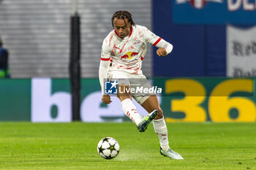
[[[124,22],[125,20],[125,22]],[[128,36],[130,33],[130,26],[131,24],[128,22],[128,19],[114,19],[114,26],[115,26],[115,30],[118,33],[118,36],[120,36],[121,38],[124,38],[125,36]]]

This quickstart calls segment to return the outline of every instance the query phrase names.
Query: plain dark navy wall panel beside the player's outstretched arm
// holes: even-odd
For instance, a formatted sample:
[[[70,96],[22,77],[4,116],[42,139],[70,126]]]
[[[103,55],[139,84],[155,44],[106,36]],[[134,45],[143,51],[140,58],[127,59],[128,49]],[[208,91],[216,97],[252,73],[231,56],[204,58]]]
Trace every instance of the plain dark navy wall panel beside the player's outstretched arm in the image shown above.
[[[153,1],[153,31],[173,45],[154,55],[154,77],[225,77],[225,26],[173,24],[170,0]]]

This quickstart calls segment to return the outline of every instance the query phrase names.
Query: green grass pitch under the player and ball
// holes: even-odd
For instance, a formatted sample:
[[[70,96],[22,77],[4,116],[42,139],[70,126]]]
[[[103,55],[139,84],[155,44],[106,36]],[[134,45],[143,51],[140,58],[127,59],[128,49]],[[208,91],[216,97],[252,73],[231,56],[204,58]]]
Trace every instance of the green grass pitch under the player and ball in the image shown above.
[[[167,123],[170,147],[183,161],[159,154],[151,125],[133,123],[0,123],[0,169],[256,169],[255,123]],[[97,143],[120,144],[105,160]]]

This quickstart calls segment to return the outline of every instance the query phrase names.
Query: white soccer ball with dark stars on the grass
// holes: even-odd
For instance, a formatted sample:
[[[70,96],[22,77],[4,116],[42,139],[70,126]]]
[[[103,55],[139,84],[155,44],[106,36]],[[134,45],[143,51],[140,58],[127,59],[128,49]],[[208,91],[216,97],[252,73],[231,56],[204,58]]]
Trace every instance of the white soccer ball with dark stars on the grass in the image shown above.
[[[97,151],[102,158],[112,159],[115,158],[120,150],[120,146],[116,139],[105,137],[101,139],[97,146]]]

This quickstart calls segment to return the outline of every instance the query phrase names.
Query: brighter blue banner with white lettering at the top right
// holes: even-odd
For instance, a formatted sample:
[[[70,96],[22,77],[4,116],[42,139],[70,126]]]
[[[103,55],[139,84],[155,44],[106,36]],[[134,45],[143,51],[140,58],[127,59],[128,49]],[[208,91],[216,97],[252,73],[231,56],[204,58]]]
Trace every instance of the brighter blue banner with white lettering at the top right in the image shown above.
[[[175,24],[256,23],[255,0],[172,0]]]

